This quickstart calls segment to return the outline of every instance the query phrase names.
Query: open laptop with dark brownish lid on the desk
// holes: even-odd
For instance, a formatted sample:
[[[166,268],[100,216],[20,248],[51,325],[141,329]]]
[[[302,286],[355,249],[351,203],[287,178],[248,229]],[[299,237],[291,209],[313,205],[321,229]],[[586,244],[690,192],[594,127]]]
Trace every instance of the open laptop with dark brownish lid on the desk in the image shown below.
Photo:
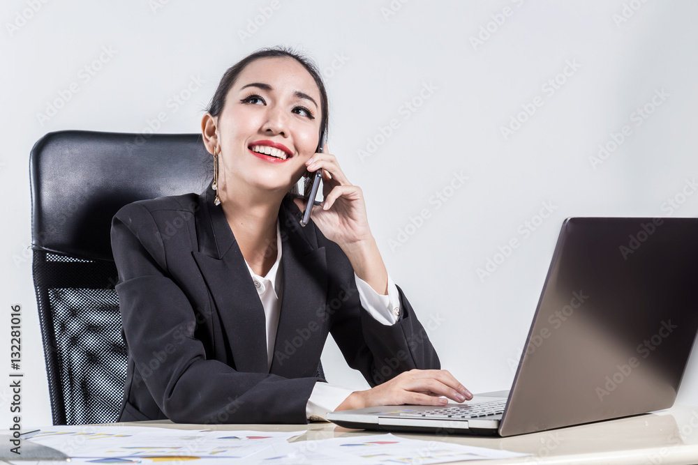
[[[698,218],[567,218],[510,390],[327,419],[512,436],[668,409],[698,330],[697,270]]]

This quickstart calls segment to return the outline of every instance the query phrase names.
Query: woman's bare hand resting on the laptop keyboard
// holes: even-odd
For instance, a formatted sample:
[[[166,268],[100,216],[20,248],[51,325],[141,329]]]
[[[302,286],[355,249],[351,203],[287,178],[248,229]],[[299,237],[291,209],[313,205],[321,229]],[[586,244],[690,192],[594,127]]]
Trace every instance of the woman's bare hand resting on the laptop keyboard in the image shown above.
[[[445,405],[473,398],[446,369],[410,369],[369,390],[352,392],[335,411],[380,405]]]

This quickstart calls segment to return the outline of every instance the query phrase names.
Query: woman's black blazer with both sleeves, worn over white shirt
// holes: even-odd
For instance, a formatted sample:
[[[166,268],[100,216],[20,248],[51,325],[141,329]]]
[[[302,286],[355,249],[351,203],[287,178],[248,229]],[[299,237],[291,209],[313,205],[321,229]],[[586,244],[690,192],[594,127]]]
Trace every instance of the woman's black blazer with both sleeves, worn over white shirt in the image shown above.
[[[290,196],[279,208],[284,284],[274,360],[265,313],[215,192],[135,201],[112,219],[116,286],[128,347],[119,421],[306,423],[332,333],[371,386],[408,369],[438,369],[429,337],[399,289],[385,326],[361,306],[339,245]]]

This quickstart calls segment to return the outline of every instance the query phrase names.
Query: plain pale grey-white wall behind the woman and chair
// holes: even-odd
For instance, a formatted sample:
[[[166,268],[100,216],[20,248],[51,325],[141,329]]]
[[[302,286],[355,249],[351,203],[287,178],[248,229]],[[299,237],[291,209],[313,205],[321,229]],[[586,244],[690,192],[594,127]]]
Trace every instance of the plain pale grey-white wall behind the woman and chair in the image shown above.
[[[262,21],[260,9],[273,14]],[[1,423],[9,424],[8,314],[16,303],[24,315],[22,423],[51,422],[28,249],[29,150],[45,133],[142,132],[158,112],[168,114],[158,132],[198,132],[237,60],[277,44],[309,54],[326,78],[330,151],[364,190],[389,273],[443,367],[473,392],[496,390],[513,379],[564,218],[698,213],[698,195],[678,211],[665,204],[681,201],[698,171],[697,16],[698,2],[667,0],[3,1]],[[241,37],[255,18],[263,24]],[[192,77],[204,84],[175,111],[170,99]],[[79,91],[41,121],[73,82]],[[664,92],[662,105],[650,103],[653,113],[637,119],[655,92]],[[505,137],[501,128],[535,98],[542,105]],[[396,129],[381,139],[392,119]],[[632,134],[593,167],[590,157],[623,125]],[[374,148],[369,139],[375,151],[362,158],[360,150]],[[450,191],[454,173],[468,180]],[[438,191],[451,194],[440,208],[430,203]],[[524,236],[520,226],[537,221],[543,203],[553,213]],[[425,208],[429,218],[410,227]],[[520,247],[481,280],[477,268],[511,238]],[[322,361],[331,382],[367,386],[334,342]],[[678,402],[698,404],[697,387],[693,358]]]

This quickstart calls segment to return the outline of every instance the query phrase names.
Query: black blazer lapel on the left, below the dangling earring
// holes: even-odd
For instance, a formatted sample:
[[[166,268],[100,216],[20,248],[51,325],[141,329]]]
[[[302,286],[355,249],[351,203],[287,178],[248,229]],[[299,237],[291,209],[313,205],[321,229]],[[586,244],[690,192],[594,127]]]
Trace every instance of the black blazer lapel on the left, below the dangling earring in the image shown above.
[[[214,205],[215,195],[211,185],[200,195],[199,250],[192,255],[216,303],[235,369],[266,373],[264,307],[223,209]]]

